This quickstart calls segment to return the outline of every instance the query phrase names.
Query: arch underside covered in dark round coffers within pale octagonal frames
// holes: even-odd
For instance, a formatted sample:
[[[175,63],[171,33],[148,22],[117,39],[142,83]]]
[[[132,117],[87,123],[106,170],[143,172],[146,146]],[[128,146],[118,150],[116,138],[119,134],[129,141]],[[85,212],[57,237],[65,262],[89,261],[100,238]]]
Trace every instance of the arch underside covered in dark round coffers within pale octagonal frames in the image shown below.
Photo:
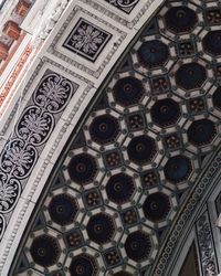
[[[73,131],[10,275],[151,275],[220,142],[221,9],[202,2],[166,1],[134,41]],[[95,32],[88,60],[109,39]]]

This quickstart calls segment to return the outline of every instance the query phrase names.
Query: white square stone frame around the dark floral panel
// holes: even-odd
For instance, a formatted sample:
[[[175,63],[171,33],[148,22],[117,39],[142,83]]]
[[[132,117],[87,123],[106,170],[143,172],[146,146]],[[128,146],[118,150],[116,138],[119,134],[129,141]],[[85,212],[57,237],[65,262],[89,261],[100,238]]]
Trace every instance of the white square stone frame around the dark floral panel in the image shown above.
[[[102,53],[102,55],[94,62],[88,62],[77,54],[73,54],[71,51],[66,50],[63,44],[65,43],[69,32],[73,30],[74,25],[77,24],[78,20],[84,18],[86,21],[93,22],[93,24],[99,25],[105,33],[109,33],[109,43],[106,45],[107,51]],[[67,30],[64,32],[64,30]],[[104,72],[105,67],[109,63],[113,55],[116,53],[118,47],[125,41],[127,33],[119,30],[119,28],[113,25],[106,20],[103,20],[102,17],[92,13],[88,10],[80,6],[75,6],[71,13],[67,15],[65,22],[57,31],[53,42],[48,49],[50,54],[55,55],[56,57],[65,61],[69,65],[77,67],[83,73],[87,73],[95,78],[98,78]]]

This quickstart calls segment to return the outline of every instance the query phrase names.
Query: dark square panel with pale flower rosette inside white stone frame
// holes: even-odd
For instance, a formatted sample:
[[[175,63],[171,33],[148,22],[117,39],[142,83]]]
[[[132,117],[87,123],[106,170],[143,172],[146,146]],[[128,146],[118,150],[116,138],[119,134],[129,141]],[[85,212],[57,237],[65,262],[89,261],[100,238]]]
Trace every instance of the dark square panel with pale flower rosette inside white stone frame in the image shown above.
[[[63,46],[88,61],[96,61],[112,34],[81,18]]]

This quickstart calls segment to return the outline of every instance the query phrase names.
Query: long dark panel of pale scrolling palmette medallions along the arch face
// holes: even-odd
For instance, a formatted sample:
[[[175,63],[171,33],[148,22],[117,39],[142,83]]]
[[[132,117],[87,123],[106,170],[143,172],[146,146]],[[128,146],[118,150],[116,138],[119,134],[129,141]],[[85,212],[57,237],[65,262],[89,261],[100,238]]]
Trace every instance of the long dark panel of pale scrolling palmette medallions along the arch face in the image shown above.
[[[18,120],[13,139],[8,141],[1,153],[0,236],[7,226],[2,214],[15,206],[23,187],[20,181],[27,180],[32,172],[55,120],[77,87],[59,74],[46,73]]]

